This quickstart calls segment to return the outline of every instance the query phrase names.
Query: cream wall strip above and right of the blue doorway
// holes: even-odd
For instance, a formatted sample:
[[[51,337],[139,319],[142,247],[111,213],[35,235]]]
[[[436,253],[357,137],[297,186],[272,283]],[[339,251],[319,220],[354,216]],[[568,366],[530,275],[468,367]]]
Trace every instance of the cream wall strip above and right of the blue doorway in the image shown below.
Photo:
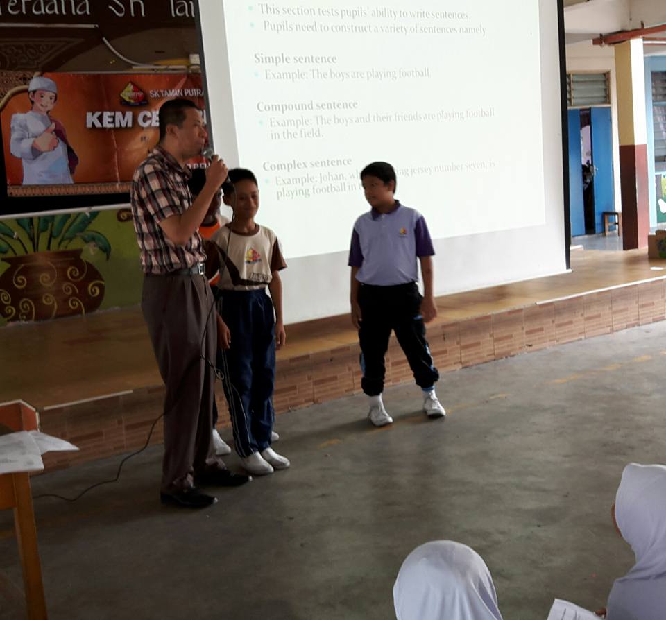
[[[583,41],[567,45],[567,71],[610,72],[610,119],[613,126],[613,180],[615,184],[615,211],[622,211],[620,193],[620,134],[617,124],[617,81],[615,80],[615,55],[613,47],[592,45]]]

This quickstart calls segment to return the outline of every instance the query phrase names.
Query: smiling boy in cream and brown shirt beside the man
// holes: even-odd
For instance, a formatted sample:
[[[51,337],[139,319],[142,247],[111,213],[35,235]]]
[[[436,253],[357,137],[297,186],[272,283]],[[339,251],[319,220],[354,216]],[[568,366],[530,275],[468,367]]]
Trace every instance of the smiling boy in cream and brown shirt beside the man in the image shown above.
[[[275,346],[282,347],[287,340],[278,272],[287,264],[275,233],[255,223],[259,209],[255,175],[249,170],[230,170],[222,189],[234,218],[211,239],[216,252],[212,252],[209,266],[220,271],[216,296],[223,351],[218,365],[225,374],[223,386],[236,451],[243,467],[260,476],[290,465],[271,448]]]

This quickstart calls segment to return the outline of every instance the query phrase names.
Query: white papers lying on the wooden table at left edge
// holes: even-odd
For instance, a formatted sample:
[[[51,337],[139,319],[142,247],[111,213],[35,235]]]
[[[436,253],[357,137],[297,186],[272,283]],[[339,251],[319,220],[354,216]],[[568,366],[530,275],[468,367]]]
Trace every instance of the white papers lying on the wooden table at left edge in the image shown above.
[[[0,436],[0,474],[39,472],[44,469],[42,454],[78,450],[68,441],[40,431],[21,431]]]

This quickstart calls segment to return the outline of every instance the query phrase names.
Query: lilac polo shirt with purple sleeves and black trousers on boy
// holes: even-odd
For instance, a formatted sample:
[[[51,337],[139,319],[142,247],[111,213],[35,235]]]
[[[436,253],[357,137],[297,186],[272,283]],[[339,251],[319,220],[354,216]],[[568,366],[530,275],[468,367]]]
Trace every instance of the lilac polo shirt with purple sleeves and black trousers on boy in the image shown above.
[[[349,266],[357,267],[361,308],[361,388],[368,396],[384,390],[384,355],[391,331],[407,356],[416,384],[429,390],[439,379],[425,338],[418,292],[418,257],[434,255],[425,218],[395,201],[395,209],[360,216],[352,232]]]

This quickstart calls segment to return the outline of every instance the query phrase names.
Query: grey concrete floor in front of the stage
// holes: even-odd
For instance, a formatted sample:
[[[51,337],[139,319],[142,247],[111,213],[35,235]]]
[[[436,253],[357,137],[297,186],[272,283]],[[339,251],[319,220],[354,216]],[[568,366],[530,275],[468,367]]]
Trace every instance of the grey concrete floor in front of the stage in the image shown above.
[[[201,512],[160,505],[149,449],[77,503],[36,502],[49,617],[390,619],[404,557],[445,538],[485,558],[505,620],[545,619],[554,597],[596,609],[633,558],[609,516],[622,467],[664,460],[665,336],[663,322],[446,374],[445,421],[425,420],[413,386],[387,390],[387,429],[362,396],[281,415],[291,470]],[[34,492],[76,494],[117,463]],[[11,527],[1,513],[3,620],[21,583]]]

